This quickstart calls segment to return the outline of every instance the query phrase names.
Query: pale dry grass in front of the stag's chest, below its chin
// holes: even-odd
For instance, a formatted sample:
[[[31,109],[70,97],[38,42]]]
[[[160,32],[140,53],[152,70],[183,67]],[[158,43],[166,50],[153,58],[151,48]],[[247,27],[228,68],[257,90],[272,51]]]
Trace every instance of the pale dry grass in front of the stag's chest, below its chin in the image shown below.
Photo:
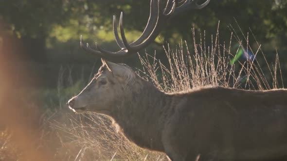
[[[62,113],[63,114],[63,113]],[[93,113],[64,114],[65,121],[52,121],[65,161],[166,161],[165,155],[129,142],[105,116]]]

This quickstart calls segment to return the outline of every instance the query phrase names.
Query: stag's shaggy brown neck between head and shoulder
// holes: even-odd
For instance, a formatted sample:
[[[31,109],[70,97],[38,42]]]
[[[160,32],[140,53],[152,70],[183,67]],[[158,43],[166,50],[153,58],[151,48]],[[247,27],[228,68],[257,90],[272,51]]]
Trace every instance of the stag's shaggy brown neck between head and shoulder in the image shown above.
[[[163,151],[161,131],[170,96],[148,81],[139,80],[130,87],[129,96],[122,98],[113,118],[126,137],[145,148]]]

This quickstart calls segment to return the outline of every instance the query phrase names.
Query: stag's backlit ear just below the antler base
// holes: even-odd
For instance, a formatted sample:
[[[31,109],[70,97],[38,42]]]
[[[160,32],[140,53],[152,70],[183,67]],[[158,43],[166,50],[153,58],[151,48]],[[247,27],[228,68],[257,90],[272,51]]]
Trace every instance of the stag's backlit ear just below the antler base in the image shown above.
[[[102,59],[102,63],[108,67],[108,69],[113,73],[113,75],[119,76],[126,81],[131,81],[132,78],[135,77],[135,73],[124,64],[116,64],[108,62],[104,59]]]

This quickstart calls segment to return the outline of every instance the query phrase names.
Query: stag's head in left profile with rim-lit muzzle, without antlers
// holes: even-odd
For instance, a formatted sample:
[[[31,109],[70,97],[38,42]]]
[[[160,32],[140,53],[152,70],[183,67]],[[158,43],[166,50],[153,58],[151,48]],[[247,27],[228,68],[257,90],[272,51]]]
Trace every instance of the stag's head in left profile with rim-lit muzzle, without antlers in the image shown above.
[[[86,111],[109,114],[115,102],[127,92],[136,73],[125,64],[115,64],[102,59],[103,65],[90,83],[69,100],[69,107],[76,113]]]

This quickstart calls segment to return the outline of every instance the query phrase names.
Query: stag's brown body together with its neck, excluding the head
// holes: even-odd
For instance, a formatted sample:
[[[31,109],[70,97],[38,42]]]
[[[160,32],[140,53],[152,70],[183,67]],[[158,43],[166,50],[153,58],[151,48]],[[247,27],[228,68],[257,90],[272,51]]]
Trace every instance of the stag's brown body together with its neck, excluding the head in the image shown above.
[[[287,155],[287,90],[210,87],[182,94],[136,95],[141,99],[127,99],[127,111],[112,117],[128,139],[165,152],[172,161],[195,161],[198,154],[199,161]]]

